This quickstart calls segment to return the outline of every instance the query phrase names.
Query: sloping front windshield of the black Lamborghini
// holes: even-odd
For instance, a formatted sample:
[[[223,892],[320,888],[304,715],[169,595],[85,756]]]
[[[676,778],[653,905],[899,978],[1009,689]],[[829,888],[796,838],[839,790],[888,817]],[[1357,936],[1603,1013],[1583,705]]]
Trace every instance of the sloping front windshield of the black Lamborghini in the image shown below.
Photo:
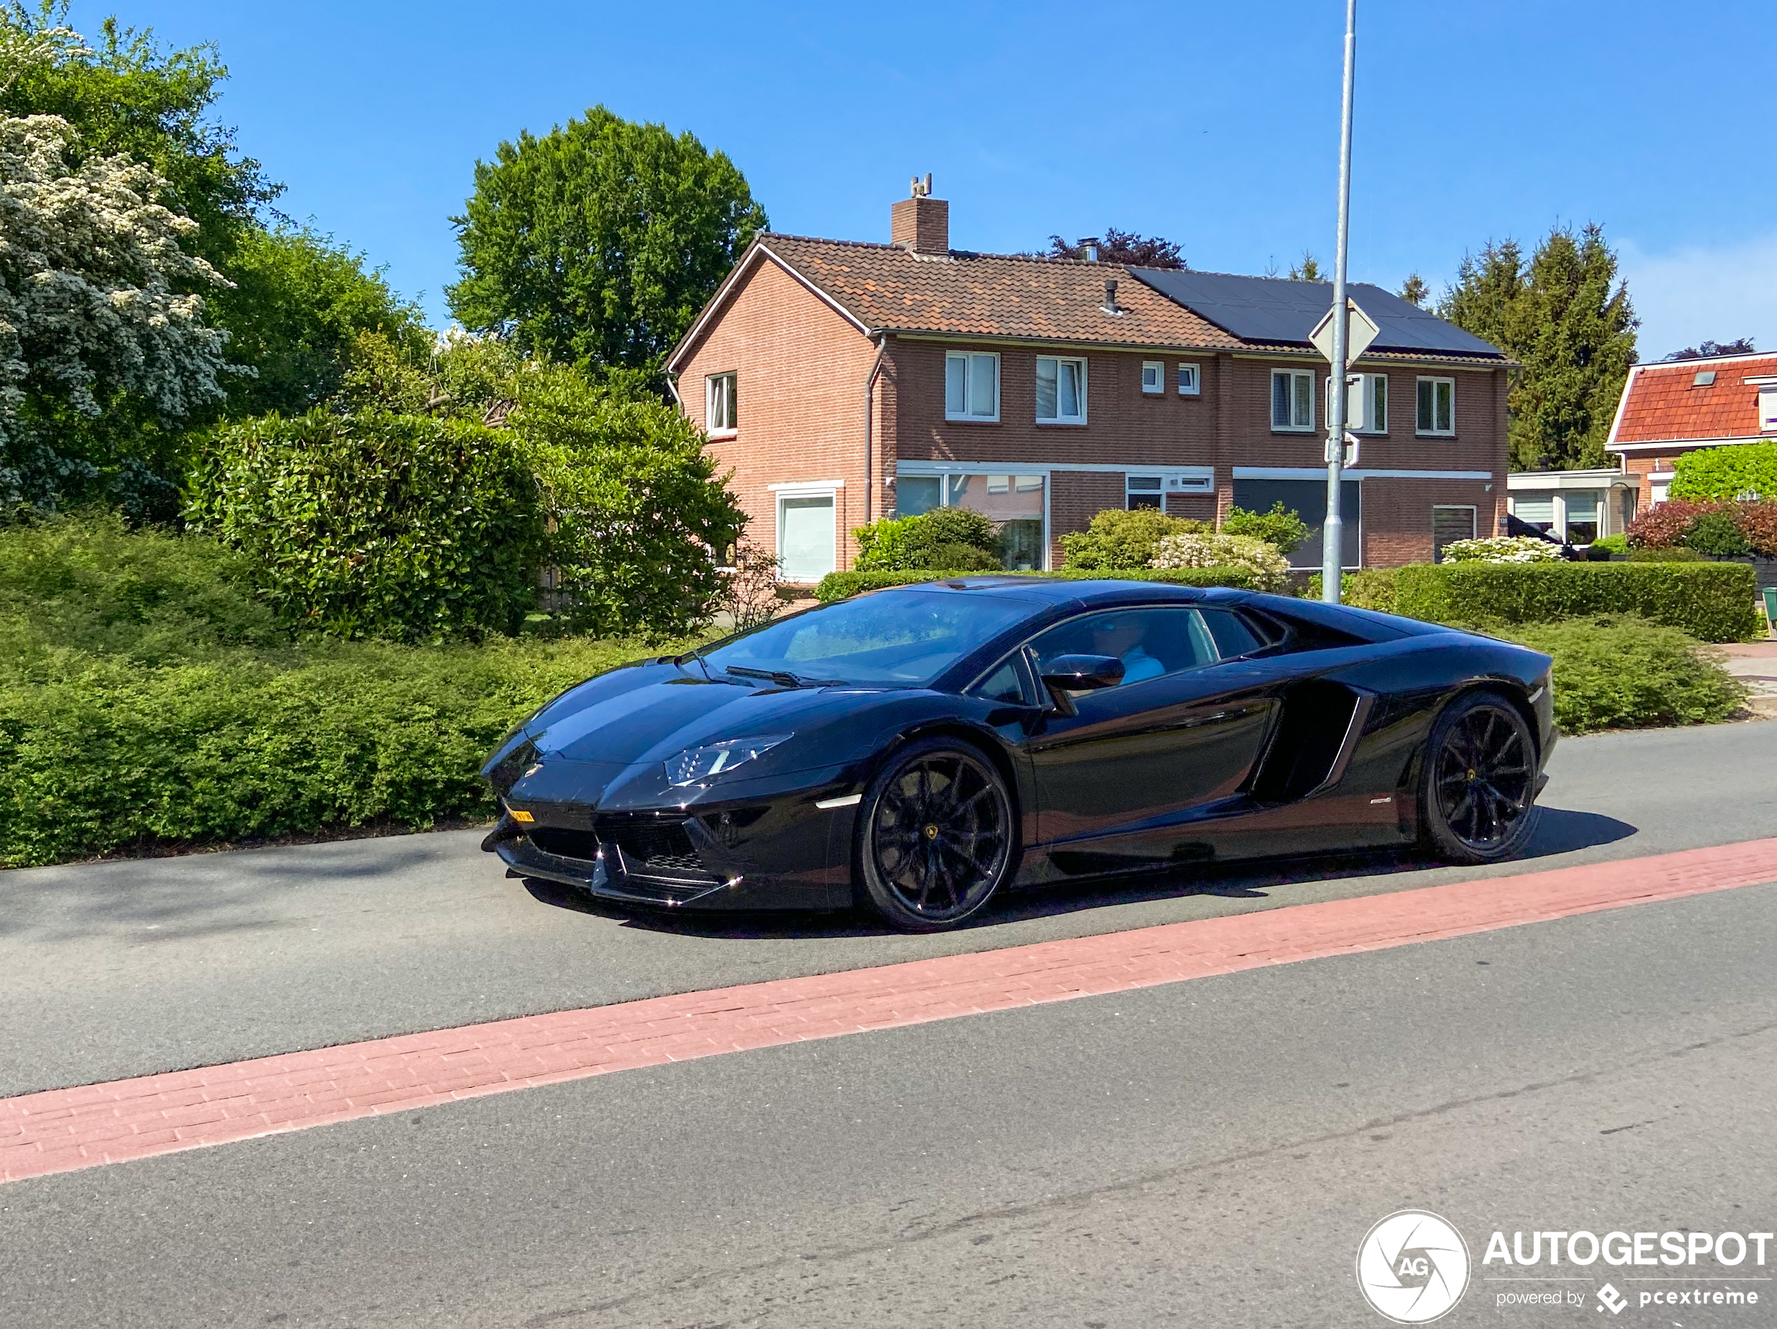
[[[737,677],[920,688],[1034,608],[967,592],[860,595],[723,641],[704,661]]]

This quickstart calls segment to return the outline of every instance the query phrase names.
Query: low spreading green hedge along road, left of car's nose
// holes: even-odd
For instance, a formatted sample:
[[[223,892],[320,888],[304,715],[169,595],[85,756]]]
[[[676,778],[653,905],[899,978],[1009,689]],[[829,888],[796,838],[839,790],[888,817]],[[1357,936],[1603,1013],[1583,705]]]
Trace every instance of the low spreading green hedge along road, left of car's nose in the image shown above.
[[[0,672],[0,865],[492,816],[476,771],[531,709],[661,647],[318,641],[151,668]]]

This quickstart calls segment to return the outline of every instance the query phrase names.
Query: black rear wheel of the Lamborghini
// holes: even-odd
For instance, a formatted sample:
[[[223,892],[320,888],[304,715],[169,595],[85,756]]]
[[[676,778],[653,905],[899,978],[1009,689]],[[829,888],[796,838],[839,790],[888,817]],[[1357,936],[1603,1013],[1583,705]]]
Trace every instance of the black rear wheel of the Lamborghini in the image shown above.
[[[1535,780],[1535,741],[1518,707],[1493,693],[1454,702],[1425,753],[1420,812],[1432,851],[1455,863],[1494,863],[1523,849]]]

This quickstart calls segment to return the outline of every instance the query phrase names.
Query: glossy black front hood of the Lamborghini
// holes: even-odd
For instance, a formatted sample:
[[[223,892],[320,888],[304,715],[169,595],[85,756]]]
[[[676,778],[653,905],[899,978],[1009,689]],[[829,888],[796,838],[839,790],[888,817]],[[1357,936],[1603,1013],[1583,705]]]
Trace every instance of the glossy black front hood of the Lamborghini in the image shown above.
[[[826,725],[855,720],[860,707],[887,693],[880,688],[711,682],[695,664],[649,661],[572,688],[531,716],[522,734],[538,760],[627,766],[750,734],[794,732],[807,739]],[[796,750],[819,764],[832,759],[832,750],[821,752],[821,746],[798,743]]]

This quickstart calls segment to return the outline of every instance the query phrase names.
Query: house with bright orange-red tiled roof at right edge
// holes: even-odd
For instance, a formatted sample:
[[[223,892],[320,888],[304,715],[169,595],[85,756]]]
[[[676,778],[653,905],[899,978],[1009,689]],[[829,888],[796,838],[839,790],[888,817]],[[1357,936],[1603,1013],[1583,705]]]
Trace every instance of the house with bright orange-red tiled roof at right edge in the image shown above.
[[[1605,450],[1640,476],[1642,510],[1663,503],[1679,457],[1777,437],[1777,355],[1637,364]]]

